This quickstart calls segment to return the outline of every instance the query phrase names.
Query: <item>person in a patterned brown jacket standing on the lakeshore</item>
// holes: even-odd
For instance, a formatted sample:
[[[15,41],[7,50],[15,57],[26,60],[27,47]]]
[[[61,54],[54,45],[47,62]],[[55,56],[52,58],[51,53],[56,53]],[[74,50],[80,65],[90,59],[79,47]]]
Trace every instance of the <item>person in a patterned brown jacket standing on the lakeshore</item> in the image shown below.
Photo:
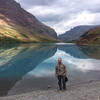
[[[56,65],[56,77],[58,78],[59,89],[66,90],[65,78],[67,77],[67,70],[61,58],[58,59],[58,64]]]

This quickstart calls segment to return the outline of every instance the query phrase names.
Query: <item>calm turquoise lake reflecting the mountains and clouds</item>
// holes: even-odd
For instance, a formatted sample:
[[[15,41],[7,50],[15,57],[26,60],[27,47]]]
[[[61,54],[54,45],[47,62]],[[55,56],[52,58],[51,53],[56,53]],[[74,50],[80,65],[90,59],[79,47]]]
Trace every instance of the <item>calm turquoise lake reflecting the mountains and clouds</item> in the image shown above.
[[[100,46],[67,43],[0,45],[0,96],[56,89],[55,66],[63,59],[67,87],[100,80]]]

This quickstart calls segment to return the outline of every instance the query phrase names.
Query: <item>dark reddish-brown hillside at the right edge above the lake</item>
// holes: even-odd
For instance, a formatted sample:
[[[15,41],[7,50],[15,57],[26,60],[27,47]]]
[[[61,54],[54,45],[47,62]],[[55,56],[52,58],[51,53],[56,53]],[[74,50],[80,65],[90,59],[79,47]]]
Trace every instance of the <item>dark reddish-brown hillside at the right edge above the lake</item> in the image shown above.
[[[100,44],[100,26],[87,31],[80,37],[78,44]]]

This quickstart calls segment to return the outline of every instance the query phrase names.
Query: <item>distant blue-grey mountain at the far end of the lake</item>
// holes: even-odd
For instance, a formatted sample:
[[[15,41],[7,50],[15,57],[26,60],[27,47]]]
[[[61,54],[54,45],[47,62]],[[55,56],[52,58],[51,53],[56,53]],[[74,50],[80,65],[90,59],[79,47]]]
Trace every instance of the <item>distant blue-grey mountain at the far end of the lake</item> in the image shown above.
[[[71,30],[65,32],[64,34],[59,35],[59,39],[64,42],[70,42],[72,40],[77,40],[89,29],[94,28],[95,26],[90,25],[81,25],[72,28]]]

